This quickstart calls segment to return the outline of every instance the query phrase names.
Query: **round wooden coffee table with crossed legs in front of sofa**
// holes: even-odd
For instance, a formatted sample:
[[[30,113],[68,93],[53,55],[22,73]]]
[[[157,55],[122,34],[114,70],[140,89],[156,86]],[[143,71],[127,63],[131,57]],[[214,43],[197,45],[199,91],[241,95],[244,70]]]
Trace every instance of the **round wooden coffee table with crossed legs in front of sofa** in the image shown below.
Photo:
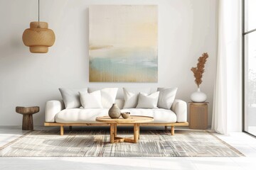
[[[154,118],[148,116],[132,115],[127,119],[117,118],[112,119],[109,116],[97,117],[96,121],[101,123],[110,123],[110,143],[114,142],[131,142],[137,143],[139,141],[139,123],[152,122]],[[117,137],[117,124],[133,124],[134,125],[134,137],[124,138]]]

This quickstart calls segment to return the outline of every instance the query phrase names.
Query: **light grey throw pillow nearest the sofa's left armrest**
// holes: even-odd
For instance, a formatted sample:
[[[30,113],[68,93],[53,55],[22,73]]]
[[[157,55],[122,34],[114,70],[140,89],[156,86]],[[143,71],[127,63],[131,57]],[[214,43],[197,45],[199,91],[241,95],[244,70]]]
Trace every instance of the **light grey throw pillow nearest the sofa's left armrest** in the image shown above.
[[[87,92],[87,88],[69,89],[59,88],[65,108],[79,108],[81,106],[78,91]]]

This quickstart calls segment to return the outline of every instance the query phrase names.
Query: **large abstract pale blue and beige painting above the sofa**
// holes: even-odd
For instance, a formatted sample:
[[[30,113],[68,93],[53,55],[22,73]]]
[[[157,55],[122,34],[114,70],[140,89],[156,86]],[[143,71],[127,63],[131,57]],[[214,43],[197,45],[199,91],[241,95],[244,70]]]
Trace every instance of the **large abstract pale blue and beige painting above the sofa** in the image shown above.
[[[155,5],[89,7],[90,81],[156,82]]]

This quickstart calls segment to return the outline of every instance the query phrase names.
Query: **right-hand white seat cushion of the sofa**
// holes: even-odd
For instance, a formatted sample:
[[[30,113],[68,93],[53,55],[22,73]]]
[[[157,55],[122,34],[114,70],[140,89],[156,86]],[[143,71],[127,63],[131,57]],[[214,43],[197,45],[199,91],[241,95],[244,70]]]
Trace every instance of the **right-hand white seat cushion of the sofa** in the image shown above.
[[[153,122],[150,123],[176,123],[176,114],[164,108],[124,108],[121,112],[129,112],[131,115],[144,115],[154,118]]]

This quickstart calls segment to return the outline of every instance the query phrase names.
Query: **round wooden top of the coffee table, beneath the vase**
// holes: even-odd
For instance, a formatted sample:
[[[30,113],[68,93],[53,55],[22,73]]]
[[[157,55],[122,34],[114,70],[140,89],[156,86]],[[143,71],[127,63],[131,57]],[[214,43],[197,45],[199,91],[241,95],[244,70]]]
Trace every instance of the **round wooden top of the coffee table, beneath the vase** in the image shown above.
[[[102,122],[102,123],[147,123],[147,122],[152,122],[154,118],[149,117],[149,116],[142,116],[142,115],[131,115],[129,118],[124,119],[122,117],[120,118],[110,118],[109,116],[102,116],[102,117],[97,117],[96,121]]]

